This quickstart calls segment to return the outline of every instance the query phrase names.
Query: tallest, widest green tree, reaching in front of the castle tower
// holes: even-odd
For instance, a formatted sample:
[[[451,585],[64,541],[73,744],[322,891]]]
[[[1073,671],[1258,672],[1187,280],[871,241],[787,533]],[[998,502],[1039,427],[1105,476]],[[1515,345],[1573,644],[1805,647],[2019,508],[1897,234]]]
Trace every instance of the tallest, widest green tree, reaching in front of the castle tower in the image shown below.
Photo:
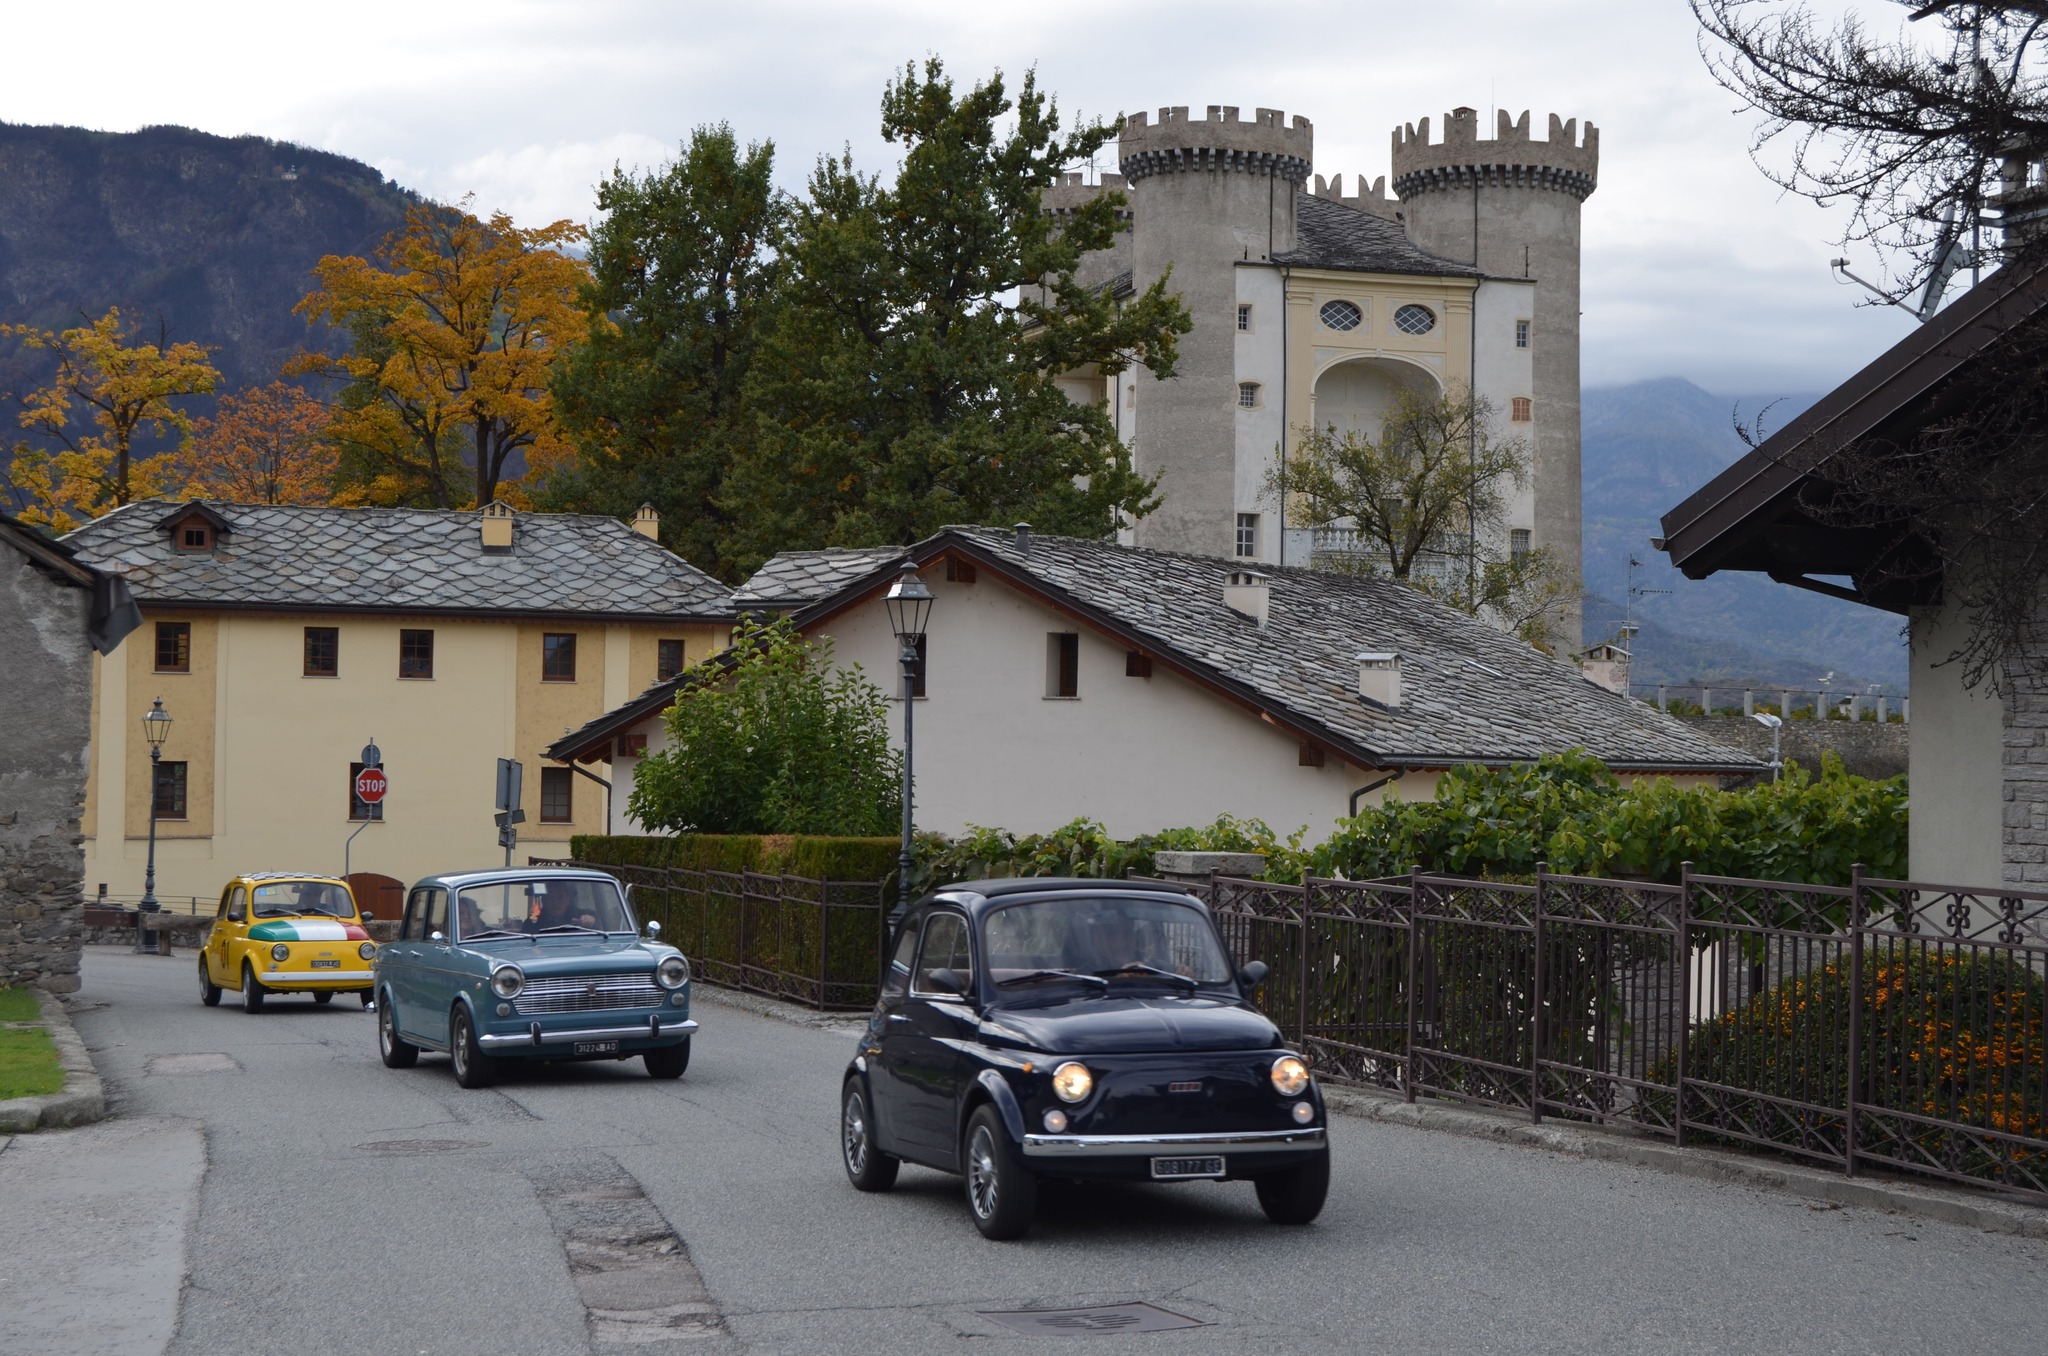
[[[946,522],[1106,537],[1153,508],[1108,414],[1057,381],[1130,365],[1169,377],[1192,328],[1167,279],[1120,305],[1075,281],[1124,229],[1120,195],[1057,221],[1040,209],[1114,135],[1061,131],[1030,74],[1014,100],[1001,74],[956,94],[938,57],[889,84],[895,180],[825,158],[791,225],[748,385],[750,451],[725,490],[733,559],[907,543]]]

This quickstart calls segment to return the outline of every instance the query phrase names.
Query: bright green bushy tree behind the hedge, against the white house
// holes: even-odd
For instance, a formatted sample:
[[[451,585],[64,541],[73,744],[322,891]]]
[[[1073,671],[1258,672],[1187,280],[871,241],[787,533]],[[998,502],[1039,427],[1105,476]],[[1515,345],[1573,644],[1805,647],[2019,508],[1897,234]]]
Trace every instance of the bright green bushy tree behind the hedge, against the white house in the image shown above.
[[[668,748],[641,760],[627,801],[649,830],[862,836],[897,823],[889,701],[786,619],[741,623],[725,655],[690,672],[664,725]]]

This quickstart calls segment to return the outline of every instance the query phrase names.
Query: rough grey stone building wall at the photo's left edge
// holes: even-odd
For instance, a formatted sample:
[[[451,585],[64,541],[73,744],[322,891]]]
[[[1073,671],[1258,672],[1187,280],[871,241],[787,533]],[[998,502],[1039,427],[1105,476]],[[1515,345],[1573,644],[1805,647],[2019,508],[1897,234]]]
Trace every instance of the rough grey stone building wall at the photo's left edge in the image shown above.
[[[92,590],[0,549],[0,985],[78,989]]]

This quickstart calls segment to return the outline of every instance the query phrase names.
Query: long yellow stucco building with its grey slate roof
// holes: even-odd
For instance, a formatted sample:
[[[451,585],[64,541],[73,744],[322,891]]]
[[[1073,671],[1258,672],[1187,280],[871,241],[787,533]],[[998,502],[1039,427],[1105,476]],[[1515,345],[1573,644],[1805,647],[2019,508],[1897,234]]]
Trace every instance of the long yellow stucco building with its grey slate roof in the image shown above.
[[[516,860],[602,832],[606,768],[543,750],[725,645],[731,602],[657,520],[582,514],[131,504],[72,533],[143,625],[94,662],[86,895],[133,901],[150,836],[141,715],[172,717],[156,891],[211,907],[246,871],[432,871],[504,860],[500,758],[524,764]],[[354,797],[362,748],[389,793]],[[352,838],[352,844],[350,844]]]

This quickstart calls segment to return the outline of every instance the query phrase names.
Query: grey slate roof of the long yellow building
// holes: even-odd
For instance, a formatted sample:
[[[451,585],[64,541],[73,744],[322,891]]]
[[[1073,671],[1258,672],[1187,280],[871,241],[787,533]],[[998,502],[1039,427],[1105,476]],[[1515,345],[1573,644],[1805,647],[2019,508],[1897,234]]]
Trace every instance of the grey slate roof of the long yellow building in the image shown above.
[[[176,504],[129,504],[70,533],[78,559],[127,580],[143,604],[371,612],[723,619],[731,594],[616,518],[514,514],[512,551],[487,555],[479,514],[207,502],[231,522],[184,553],[158,524]]]

